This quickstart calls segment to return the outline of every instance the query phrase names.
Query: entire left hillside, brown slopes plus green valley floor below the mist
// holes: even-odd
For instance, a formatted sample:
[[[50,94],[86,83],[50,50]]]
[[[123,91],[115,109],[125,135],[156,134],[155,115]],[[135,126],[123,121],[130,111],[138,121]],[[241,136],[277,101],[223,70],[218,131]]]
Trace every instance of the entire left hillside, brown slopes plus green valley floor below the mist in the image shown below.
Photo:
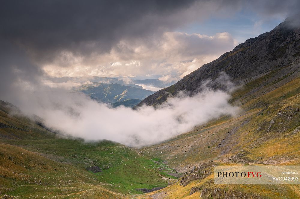
[[[172,177],[161,173],[150,157],[119,143],[61,139],[5,102],[0,122],[10,126],[0,128],[0,195],[116,198],[167,186]],[[87,171],[90,166],[103,172]]]

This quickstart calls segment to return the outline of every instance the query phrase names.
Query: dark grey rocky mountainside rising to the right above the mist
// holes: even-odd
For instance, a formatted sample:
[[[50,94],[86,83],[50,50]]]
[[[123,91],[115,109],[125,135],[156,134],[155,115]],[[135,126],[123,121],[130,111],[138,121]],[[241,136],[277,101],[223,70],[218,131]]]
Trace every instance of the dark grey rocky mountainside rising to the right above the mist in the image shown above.
[[[234,82],[246,81],[266,71],[300,61],[300,26],[298,20],[287,18],[270,32],[246,40],[232,51],[203,65],[176,84],[150,95],[139,105],[158,105],[178,91],[195,91],[203,80],[216,79],[221,71]],[[220,85],[215,86],[220,87]]]

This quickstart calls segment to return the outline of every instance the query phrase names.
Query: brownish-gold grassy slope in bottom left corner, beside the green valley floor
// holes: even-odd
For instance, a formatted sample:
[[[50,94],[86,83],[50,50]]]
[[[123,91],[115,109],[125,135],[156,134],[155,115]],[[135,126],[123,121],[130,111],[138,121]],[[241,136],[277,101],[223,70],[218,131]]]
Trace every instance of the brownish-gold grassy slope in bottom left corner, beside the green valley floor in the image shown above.
[[[121,198],[97,177],[17,146],[0,144],[0,195],[15,198]]]

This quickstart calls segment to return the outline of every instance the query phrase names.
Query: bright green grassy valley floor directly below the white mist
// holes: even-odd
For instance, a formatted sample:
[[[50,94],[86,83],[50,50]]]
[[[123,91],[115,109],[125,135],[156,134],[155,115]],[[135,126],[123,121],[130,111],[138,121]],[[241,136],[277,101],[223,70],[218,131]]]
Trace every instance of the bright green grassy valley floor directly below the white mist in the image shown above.
[[[156,163],[136,149],[110,141],[84,143],[80,140],[6,140],[14,146],[33,151],[55,162],[86,170],[97,166],[101,172],[92,173],[110,190],[121,193],[142,193],[140,188],[167,186]],[[166,176],[167,177],[167,176]]]

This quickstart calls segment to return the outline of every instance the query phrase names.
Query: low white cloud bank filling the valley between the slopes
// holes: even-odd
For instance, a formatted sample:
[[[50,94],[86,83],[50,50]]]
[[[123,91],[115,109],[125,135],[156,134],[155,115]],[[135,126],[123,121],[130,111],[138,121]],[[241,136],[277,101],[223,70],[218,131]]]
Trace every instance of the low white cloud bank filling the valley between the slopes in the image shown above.
[[[64,134],[141,147],[170,139],[222,115],[237,114],[239,108],[228,103],[233,86],[228,77],[223,79],[228,91],[213,90],[208,86],[212,82],[206,81],[202,92],[192,97],[181,92],[156,109],[151,106],[138,110],[124,106],[111,108],[83,94],[53,88],[26,94],[19,106],[27,114],[42,117],[48,128]]]

